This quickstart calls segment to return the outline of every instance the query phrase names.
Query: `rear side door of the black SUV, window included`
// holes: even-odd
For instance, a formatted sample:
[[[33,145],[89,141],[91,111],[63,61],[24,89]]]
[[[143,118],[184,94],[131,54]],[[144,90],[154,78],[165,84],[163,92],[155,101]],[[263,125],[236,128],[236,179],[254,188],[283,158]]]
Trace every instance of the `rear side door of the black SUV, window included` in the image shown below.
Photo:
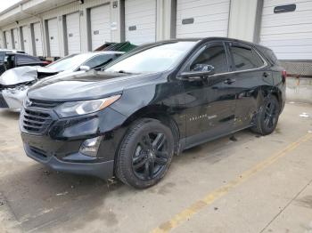
[[[272,85],[272,72],[259,52],[246,44],[229,43],[231,69],[234,83],[230,84],[236,92],[235,129],[250,126],[253,116],[262,102],[261,92]]]

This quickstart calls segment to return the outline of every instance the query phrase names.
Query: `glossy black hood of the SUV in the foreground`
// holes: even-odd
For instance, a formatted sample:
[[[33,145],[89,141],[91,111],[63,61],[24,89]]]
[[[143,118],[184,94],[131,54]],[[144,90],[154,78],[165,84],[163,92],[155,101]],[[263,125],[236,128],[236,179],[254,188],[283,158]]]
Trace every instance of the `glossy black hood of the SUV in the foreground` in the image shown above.
[[[127,86],[139,84],[160,76],[157,74],[123,74],[95,70],[83,74],[48,78],[29,89],[34,100],[74,101],[105,98],[121,93]]]

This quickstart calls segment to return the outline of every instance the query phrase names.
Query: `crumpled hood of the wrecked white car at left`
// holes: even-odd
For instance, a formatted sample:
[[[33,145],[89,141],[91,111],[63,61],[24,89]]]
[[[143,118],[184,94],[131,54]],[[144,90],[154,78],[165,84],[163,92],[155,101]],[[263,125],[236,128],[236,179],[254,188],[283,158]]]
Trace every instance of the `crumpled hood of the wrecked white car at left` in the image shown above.
[[[36,81],[38,76],[54,75],[57,71],[42,67],[19,67],[8,69],[0,76],[0,84],[11,86]]]

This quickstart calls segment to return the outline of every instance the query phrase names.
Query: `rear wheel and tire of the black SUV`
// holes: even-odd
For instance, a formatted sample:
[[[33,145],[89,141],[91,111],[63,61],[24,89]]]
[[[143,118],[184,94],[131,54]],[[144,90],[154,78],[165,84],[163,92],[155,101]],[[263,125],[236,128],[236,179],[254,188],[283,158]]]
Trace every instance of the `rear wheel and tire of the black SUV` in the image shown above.
[[[267,97],[255,117],[255,125],[250,129],[253,133],[267,135],[275,131],[280,115],[280,103],[274,95]]]

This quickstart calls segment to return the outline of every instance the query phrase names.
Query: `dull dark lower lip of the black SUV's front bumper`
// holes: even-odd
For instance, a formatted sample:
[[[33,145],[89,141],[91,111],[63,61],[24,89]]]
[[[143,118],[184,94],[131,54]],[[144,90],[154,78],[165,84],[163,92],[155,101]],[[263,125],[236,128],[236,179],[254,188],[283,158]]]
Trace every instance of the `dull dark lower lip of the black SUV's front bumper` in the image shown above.
[[[96,163],[78,163],[72,161],[62,161],[54,156],[47,156],[38,149],[31,149],[28,144],[24,144],[26,155],[37,162],[52,168],[55,171],[63,173],[75,173],[82,175],[92,175],[101,179],[109,179],[113,175],[114,161],[96,162]],[[71,159],[75,156],[71,156]],[[81,159],[85,156],[77,154]]]

